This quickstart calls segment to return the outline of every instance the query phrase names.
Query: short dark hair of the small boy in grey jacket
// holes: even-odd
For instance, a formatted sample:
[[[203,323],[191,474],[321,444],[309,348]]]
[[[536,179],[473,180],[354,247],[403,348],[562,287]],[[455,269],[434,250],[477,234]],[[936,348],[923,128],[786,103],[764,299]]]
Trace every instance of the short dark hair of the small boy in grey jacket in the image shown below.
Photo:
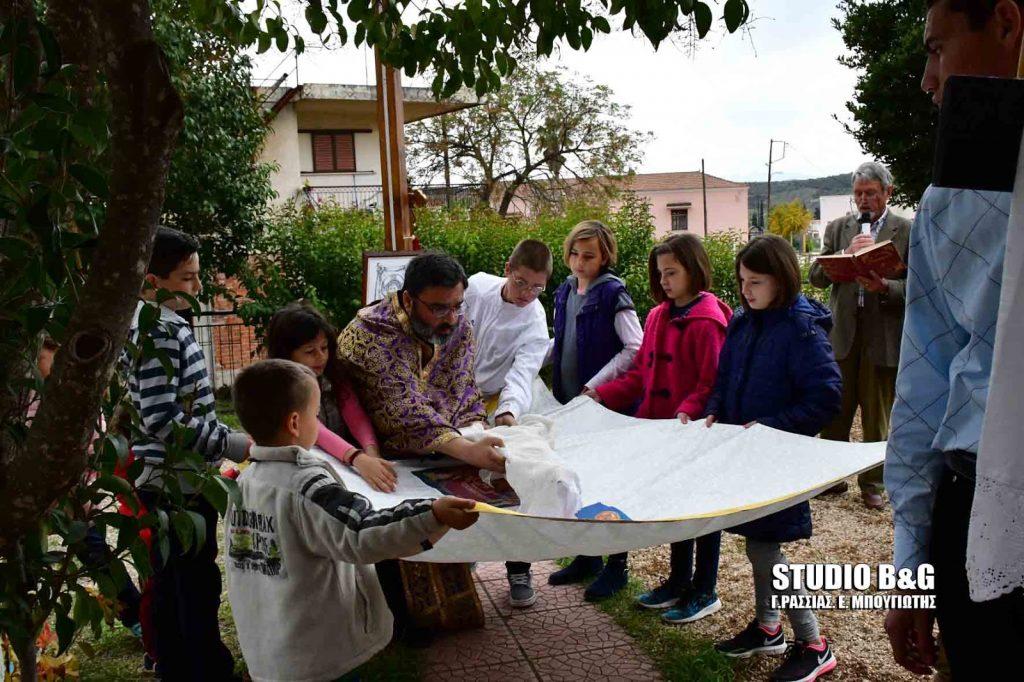
[[[273,442],[285,419],[306,407],[316,375],[292,360],[273,358],[253,363],[234,377],[234,412],[257,445]]]

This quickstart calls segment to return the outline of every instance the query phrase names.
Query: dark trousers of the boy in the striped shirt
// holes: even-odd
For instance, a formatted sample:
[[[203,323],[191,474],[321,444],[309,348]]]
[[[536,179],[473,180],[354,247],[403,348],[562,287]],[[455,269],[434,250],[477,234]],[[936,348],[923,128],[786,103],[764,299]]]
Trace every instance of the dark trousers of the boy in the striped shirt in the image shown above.
[[[158,495],[140,492],[150,510],[161,508]],[[157,674],[164,680],[229,680],[234,660],[220,639],[221,579],[217,566],[217,511],[206,500],[189,503],[206,521],[203,547],[183,552],[170,531],[168,556],[154,542],[153,629]]]

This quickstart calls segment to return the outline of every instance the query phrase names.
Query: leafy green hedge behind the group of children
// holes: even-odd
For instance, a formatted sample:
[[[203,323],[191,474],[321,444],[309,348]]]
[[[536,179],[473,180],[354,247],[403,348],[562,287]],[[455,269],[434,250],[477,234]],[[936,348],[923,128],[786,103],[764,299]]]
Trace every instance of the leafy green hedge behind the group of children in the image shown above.
[[[615,271],[626,281],[643,321],[653,301],[648,291],[647,256],[654,245],[654,225],[645,203],[628,200],[617,210],[579,204],[557,215],[504,219],[487,208],[425,208],[417,213],[417,235],[425,249],[450,253],[466,272],[501,274],[519,240],[537,239],[555,255],[555,270],[541,300],[553,314],[552,294],[568,275],[562,243],[581,220],[605,221],[618,242]],[[361,306],[362,252],[383,249],[379,213],[325,207],[318,211],[284,209],[254,249],[253,267],[244,282],[251,302],[243,313],[261,325],[278,307],[297,298],[319,305],[339,327]],[[711,256],[713,291],[733,308],[739,305],[734,259],[745,239],[738,232],[705,238]],[[806,274],[805,274],[806,281]],[[806,287],[816,297],[826,292]]]

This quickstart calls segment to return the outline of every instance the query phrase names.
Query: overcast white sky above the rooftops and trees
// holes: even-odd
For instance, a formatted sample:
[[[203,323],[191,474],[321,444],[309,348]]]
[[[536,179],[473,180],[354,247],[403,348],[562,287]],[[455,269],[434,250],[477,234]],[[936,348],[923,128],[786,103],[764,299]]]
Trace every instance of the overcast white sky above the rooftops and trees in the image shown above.
[[[671,44],[655,52],[644,39],[618,32],[595,39],[589,52],[566,46],[553,61],[611,87],[632,105],[631,124],[654,133],[640,172],[698,170],[703,158],[713,175],[764,180],[772,138],[790,144],[773,179],[852,171],[867,158],[834,118],[849,119],[845,102],[855,81],[837,61],[845,47],[830,25],[836,2],[751,5],[756,20],[749,34],[720,28],[693,55]],[[257,57],[254,76],[288,71],[294,83],[294,59],[282,63],[282,56],[270,50]],[[310,50],[298,72],[303,83],[372,84],[373,56],[354,48]]]

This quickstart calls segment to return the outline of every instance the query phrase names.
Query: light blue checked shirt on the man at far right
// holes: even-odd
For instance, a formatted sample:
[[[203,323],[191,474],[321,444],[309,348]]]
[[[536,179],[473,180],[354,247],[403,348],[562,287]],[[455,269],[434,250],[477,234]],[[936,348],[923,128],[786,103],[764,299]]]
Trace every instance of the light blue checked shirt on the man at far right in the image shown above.
[[[943,453],[977,453],[1011,195],[929,187],[910,231],[906,319],[885,482],[897,567],[929,561]]]

